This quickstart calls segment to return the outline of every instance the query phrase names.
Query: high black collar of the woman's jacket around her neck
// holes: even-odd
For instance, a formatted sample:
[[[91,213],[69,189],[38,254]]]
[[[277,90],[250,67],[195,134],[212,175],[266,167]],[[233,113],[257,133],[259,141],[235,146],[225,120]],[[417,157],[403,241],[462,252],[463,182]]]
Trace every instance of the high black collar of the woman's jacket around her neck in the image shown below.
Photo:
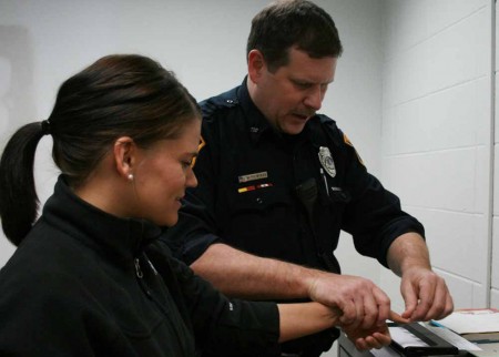
[[[64,175],[59,176],[54,193],[43,207],[42,217],[120,261],[135,257],[163,232],[145,220],[120,218],[90,205],[71,191]]]

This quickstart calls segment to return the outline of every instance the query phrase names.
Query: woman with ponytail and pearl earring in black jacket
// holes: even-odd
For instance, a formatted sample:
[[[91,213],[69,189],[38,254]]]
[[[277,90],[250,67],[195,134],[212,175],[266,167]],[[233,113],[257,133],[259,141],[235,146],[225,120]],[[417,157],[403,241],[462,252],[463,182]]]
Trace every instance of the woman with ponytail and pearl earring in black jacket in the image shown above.
[[[317,303],[228,299],[157,237],[177,221],[200,143],[195,100],[159,63],[110,55],[67,80],[47,120],[0,161],[0,216],[18,246],[0,271],[0,356],[262,356],[337,325]],[[61,174],[39,215],[43,135]],[[386,328],[347,329],[361,348]]]

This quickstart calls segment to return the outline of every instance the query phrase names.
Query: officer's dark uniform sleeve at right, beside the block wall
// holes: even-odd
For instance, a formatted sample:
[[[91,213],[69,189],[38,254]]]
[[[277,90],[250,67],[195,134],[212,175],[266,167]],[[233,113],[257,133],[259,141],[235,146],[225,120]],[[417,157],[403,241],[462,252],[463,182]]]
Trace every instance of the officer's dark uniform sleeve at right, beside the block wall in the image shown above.
[[[342,228],[354,237],[356,249],[375,257],[388,267],[386,256],[390,244],[408,232],[425,236],[422,225],[400,207],[400,200],[369,174],[357,151],[339,129],[345,157],[345,186],[349,194]]]

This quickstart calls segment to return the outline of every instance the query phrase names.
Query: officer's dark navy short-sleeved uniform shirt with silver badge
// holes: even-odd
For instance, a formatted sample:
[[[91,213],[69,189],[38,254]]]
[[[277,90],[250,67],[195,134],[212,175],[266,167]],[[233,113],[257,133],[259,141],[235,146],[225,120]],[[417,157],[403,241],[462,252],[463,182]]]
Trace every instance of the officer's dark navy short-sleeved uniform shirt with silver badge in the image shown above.
[[[223,242],[339,273],[333,252],[340,230],[353,235],[360,254],[385,266],[396,237],[424,234],[332,119],[315,115],[298,135],[278,133],[251,100],[246,80],[201,108],[198,185],[187,190],[166,237],[187,264]]]

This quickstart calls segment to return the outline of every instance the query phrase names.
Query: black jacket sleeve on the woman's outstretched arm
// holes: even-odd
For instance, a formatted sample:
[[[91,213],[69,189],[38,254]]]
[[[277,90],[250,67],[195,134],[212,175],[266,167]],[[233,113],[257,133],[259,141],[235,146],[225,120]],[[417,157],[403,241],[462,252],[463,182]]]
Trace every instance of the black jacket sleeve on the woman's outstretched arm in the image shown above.
[[[279,316],[275,303],[228,299],[169,255],[164,242],[156,243],[149,252],[172,294],[179,289],[177,305],[189,315],[196,345],[204,354],[258,356],[264,350],[279,350]]]

